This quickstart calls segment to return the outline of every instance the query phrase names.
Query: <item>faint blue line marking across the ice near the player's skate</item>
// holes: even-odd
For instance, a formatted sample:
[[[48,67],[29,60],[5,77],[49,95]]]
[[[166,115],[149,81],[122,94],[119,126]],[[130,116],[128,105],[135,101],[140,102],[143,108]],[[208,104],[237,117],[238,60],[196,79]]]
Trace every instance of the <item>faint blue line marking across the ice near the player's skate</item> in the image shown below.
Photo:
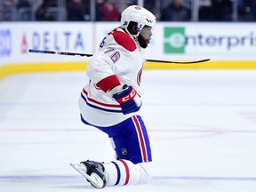
[[[70,180],[84,178],[80,175],[0,175],[0,180]],[[155,176],[152,180],[243,180],[256,181],[256,177],[197,177],[197,176]]]

